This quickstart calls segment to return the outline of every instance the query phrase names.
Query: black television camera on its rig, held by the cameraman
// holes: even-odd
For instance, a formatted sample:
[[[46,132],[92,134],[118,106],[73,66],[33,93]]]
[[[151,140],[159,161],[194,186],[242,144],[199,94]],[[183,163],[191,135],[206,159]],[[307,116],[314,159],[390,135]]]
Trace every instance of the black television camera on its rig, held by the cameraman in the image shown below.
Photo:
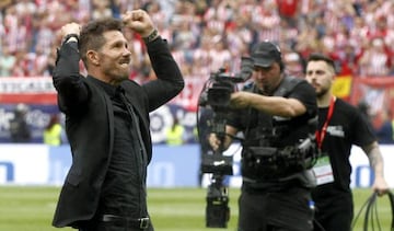
[[[245,82],[252,76],[253,60],[248,57],[241,59],[241,72],[231,76],[221,68],[218,72],[210,74],[210,78],[205,83],[199,95],[198,112],[197,112],[197,131],[200,137],[201,150],[209,150],[202,146],[209,146],[207,139],[209,132],[224,142],[227,117],[225,115],[231,111],[230,99],[231,93],[237,89],[237,83]],[[210,116],[205,119],[199,119],[200,107],[204,107],[204,113],[209,112]],[[202,116],[201,116],[202,118]],[[200,129],[201,124],[208,125],[209,129],[206,132]],[[207,207],[206,207],[206,226],[208,228],[227,228],[227,222],[230,219],[229,208],[229,189],[223,183],[225,175],[232,175],[232,157],[223,155],[224,148],[219,147],[216,151],[202,151],[201,155],[201,172],[211,174],[211,182],[208,186]]]

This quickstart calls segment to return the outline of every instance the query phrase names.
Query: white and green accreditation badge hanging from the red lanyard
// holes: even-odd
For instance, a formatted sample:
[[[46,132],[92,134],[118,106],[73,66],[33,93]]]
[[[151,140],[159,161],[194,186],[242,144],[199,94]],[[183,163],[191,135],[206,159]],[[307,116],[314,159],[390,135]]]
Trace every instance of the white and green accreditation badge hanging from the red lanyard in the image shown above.
[[[323,185],[334,182],[333,168],[327,154],[322,154],[313,166],[313,173],[316,177],[316,184]]]

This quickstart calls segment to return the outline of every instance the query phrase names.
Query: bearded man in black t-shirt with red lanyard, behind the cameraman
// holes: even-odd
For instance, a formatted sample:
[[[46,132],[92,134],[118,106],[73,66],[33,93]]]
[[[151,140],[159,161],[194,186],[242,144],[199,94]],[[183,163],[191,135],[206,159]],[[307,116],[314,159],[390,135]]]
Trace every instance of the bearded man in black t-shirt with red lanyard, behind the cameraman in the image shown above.
[[[332,84],[334,62],[326,56],[313,54],[306,62],[306,80],[316,91],[318,105],[317,146],[322,157],[314,166],[316,188],[312,197],[316,207],[314,230],[350,231],[354,203],[350,189],[352,145],[359,146],[369,158],[374,172],[373,190],[383,195],[389,186],[383,176],[383,159],[372,126],[360,111],[335,97]]]

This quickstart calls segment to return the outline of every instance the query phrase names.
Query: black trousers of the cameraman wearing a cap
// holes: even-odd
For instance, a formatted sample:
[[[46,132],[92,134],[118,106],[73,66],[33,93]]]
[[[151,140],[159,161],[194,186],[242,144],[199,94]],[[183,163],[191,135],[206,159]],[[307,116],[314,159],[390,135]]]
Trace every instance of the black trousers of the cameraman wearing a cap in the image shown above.
[[[291,187],[280,192],[248,192],[239,198],[237,231],[311,231],[310,190]]]

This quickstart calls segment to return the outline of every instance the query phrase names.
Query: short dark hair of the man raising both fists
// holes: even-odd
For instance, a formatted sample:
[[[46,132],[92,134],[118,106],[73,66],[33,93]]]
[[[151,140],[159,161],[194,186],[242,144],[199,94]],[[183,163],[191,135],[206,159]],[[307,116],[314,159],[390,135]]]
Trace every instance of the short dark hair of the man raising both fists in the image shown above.
[[[79,50],[83,63],[86,66],[86,51],[99,50],[105,44],[104,32],[123,32],[123,22],[113,18],[104,18],[91,21],[83,26],[79,38]]]

